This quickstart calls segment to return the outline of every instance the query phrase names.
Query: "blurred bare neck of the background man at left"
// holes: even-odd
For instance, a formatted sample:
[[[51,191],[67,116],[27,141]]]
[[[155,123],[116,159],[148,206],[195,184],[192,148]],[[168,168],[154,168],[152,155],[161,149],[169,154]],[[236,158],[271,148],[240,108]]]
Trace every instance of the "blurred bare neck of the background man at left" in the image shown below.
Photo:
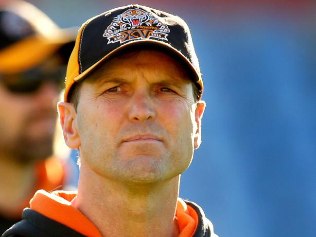
[[[20,218],[29,190],[34,185],[34,165],[0,156],[0,180],[0,213]]]

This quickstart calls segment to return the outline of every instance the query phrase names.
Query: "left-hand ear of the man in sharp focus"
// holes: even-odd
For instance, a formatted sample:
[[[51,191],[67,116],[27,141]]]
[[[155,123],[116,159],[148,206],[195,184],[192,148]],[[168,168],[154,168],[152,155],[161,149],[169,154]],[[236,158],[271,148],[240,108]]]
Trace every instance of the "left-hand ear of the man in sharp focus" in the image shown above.
[[[77,149],[81,145],[77,129],[77,113],[73,104],[58,102],[57,104],[60,125],[63,130],[65,142],[71,149]]]

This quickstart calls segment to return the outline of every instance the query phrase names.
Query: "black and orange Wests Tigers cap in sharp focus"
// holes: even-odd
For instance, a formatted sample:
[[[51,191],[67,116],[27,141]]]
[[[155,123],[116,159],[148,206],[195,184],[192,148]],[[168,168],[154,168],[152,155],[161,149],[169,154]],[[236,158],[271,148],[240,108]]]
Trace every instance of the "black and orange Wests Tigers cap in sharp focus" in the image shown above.
[[[142,47],[165,51],[188,68],[201,98],[202,75],[186,22],[166,12],[131,4],[92,17],[81,26],[68,62],[64,101],[68,102],[73,85],[103,62]]]

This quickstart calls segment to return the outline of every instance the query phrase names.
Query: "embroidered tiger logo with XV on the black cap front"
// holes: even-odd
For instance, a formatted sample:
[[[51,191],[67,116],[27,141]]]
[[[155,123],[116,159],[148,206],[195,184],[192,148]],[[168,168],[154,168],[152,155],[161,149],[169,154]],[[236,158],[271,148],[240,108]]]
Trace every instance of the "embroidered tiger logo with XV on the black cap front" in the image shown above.
[[[170,30],[151,13],[139,8],[129,9],[117,17],[106,28],[103,37],[108,39],[107,44],[131,40],[156,38],[166,40]]]

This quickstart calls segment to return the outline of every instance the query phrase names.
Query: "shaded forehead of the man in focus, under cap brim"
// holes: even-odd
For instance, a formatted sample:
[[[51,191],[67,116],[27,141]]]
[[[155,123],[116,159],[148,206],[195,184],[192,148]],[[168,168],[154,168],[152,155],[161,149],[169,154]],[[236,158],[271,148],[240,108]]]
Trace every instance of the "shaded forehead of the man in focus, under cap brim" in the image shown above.
[[[142,71],[152,79],[173,79],[174,83],[191,82],[187,69],[167,53],[157,50],[135,50],[122,53],[105,62],[88,79],[102,83],[108,76],[132,77]]]

